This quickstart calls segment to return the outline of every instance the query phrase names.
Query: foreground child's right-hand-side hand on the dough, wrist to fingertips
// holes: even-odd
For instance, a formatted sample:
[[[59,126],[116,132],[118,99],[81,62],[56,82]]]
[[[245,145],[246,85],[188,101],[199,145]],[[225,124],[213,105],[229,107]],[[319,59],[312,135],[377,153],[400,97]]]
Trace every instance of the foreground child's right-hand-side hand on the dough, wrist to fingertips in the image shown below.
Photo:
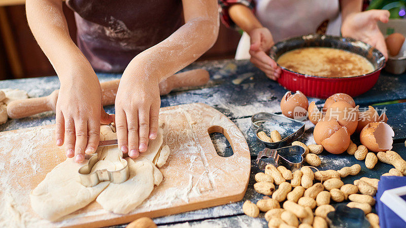
[[[137,158],[147,150],[149,139],[157,136],[161,99],[158,80],[130,69],[130,65],[118,87],[115,123],[119,148]]]

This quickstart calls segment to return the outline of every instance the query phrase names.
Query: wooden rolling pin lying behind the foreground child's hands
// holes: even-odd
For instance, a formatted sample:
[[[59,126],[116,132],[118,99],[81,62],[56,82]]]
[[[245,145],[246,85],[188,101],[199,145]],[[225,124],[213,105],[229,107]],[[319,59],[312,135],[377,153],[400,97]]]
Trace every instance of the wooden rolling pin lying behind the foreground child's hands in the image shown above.
[[[209,72],[204,69],[194,69],[172,75],[159,83],[160,95],[166,95],[173,89],[190,86],[201,86],[209,81]],[[112,105],[116,99],[120,80],[100,83],[101,103]],[[15,100],[7,105],[7,114],[11,119],[29,117],[44,111],[55,111],[59,90],[55,90],[46,97]]]

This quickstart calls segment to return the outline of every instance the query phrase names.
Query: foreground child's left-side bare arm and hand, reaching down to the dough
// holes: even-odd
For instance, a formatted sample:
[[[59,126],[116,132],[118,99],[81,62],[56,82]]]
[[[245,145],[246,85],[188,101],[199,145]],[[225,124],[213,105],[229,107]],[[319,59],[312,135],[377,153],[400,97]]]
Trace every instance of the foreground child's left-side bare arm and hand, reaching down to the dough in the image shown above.
[[[105,115],[99,81],[69,35],[61,0],[27,0],[26,14],[32,34],[61,84],[56,102],[56,144],[65,144],[66,156],[82,162],[85,151],[93,153],[97,148],[100,115]]]

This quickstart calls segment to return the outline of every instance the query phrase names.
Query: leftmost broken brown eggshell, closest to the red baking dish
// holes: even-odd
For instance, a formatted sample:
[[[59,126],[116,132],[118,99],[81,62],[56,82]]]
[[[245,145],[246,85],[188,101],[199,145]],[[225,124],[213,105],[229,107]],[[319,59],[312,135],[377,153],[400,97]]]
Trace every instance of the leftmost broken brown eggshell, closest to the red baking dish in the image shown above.
[[[295,107],[302,107],[304,111],[308,110],[309,101],[306,96],[300,91],[296,91],[295,94],[288,91],[282,97],[281,100],[281,110],[282,114],[289,118],[294,118],[294,109]]]

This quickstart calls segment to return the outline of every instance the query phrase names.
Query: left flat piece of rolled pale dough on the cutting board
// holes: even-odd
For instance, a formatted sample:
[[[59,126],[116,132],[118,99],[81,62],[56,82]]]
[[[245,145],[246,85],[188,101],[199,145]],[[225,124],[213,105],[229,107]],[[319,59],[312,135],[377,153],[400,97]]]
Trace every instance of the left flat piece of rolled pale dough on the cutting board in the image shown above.
[[[29,195],[32,209],[41,217],[54,221],[96,199],[110,182],[83,186],[78,174],[82,166],[68,158],[51,170]]]

